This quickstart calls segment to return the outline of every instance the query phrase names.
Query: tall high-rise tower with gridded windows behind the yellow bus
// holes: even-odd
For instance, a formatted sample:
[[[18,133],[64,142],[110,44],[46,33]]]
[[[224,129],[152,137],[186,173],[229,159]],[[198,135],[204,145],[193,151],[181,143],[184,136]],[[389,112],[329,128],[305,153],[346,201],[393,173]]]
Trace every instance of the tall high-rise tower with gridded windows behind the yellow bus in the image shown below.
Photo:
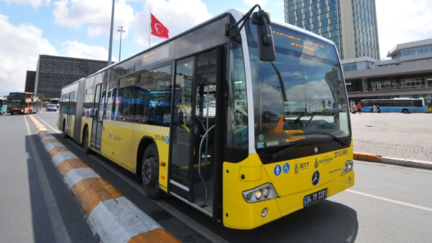
[[[341,60],[380,59],[375,0],[285,0],[285,22],[335,42]]]

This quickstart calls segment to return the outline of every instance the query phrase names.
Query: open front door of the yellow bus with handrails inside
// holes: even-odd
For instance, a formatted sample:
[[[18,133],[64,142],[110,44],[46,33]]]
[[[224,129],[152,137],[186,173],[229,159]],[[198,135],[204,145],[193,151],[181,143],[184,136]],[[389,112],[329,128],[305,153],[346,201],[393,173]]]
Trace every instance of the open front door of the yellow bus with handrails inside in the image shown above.
[[[175,87],[180,97],[174,101],[171,129],[169,190],[209,216],[217,195],[217,53],[214,49],[176,63]]]

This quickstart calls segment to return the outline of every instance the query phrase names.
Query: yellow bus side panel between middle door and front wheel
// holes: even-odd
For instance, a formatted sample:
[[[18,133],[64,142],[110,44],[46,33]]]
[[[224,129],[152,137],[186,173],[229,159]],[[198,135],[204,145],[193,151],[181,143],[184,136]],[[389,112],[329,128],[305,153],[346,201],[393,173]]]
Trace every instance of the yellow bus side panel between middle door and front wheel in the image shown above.
[[[101,138],[101,154],[131,171],[133,125],[116,120],[104,120]]]

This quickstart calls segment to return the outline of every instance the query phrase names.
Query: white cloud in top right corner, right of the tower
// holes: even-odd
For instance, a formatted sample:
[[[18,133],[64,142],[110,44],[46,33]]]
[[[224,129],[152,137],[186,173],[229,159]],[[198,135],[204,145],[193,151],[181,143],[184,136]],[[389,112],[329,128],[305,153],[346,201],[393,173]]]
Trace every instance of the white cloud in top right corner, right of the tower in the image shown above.
[[[381,58],[396,46],[432,38],[432,1],[376,0]]]

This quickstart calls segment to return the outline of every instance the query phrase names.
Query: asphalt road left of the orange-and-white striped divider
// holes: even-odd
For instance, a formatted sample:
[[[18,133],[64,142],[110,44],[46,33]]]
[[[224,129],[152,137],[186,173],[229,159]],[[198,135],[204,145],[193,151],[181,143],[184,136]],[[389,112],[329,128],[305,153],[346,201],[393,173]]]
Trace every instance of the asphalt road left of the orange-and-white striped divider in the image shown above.
[[[1,115],[0,138],[0,242],[99,242],[28,116]]]

